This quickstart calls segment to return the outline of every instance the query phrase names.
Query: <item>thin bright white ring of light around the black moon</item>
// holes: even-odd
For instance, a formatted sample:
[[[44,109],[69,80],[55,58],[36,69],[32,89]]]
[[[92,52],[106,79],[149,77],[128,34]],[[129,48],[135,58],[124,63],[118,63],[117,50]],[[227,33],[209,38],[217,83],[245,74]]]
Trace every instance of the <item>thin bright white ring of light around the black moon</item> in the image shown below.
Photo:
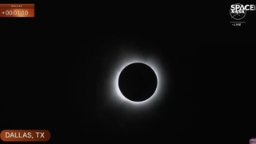
[[[143,63],[143,62],[132,62],[132,63],[126,65],[126,66],[129,66],[129,65],[134,64],[134,63],[142,63],[142,64],[144,64],[144,65],[146,65],[146,66],[149,66],[149,65],[147,65],[146,63]],[[124,66],[124,67],[122,68],[122,70],[124,70],[124,69],[126,68],[126,66]],[[150,69],[152,69],[152,70],[154,71],[154,74],[155,74],[156,77],[157,77],[157,87],[156,87],[155,90],[154,90],[154,94],[155,94],[156,91],[158,90],[158,74],[156,74],[155,70],[154,70],[151,66],[149,66],[149,67],[150,67]],[[120,73],[118,74],[118,78],[117,78],[118,80],[119,80],[120,74],[122,73],[122,70],[120,70]],[[118,81],[117,81],[117,82],[118,82]],[[126,99],[126,100],[129,101],[129,102],[134,102],[134,101],[131,101],[130,99],[126,98],[126,97],[122,94],[122,92],[121,92],[121,90],[120,90],[120,88],[119,88],[119,85],[118,85],[118,91],[119,91],[118,93],[122,95],[122,98],[123,98],[123,99]],[[152,95],[150,96],[150,98],[154,97],[154,94],[152,94]],[[142,102],[146,102],[146,101],[150,100],[150,98],[147,98],[146,100],[144,100],[144,101],[142,101]],[[142,103],[142,102],[134,102],[134,103]]]

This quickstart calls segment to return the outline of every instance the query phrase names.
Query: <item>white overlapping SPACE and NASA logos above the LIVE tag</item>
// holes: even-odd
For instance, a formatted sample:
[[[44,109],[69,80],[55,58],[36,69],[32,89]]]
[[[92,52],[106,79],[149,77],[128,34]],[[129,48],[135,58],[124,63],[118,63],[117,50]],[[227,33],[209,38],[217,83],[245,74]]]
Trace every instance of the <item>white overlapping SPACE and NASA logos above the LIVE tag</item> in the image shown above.
[[[235,3],[230,7],[230,16],[235,20],[241,20],[246,16],[246,11],[256,10],[255,5],[242,5]]]

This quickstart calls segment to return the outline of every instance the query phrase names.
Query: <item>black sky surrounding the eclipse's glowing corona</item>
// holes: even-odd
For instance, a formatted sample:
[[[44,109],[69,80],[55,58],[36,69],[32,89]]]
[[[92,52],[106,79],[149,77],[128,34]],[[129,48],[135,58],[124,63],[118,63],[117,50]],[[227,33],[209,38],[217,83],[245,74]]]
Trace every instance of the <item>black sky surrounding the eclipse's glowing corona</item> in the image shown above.
[[[255,137],[253,95],[240,82],[253,61],[250,51],[240,52],[253,44],[254,27],[231,27],[230,4],[214,13],[210,2],[66,1],[47,9],[48,2],[35,3],[35,18],[0,19],[2,130],[50,130],[49,142],[247,143]],[[102,110],[96,90],[104,54],[114,57],[111,46],[130,42],[154,46],[174,86],[161,106],[145,118],[131,114],[120,128],[116,123],[125,122]]]

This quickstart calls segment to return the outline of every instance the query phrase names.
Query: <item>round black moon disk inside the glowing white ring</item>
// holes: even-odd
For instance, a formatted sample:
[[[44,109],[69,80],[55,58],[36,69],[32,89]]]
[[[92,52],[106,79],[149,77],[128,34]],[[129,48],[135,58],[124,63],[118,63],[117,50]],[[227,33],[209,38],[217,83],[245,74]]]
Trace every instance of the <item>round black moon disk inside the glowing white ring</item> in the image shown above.
[[[127,99],[142,102],[150,98],[158,85],[154,70],[143,63],[132,63],[126,66],[118,78],[118,86]]]

